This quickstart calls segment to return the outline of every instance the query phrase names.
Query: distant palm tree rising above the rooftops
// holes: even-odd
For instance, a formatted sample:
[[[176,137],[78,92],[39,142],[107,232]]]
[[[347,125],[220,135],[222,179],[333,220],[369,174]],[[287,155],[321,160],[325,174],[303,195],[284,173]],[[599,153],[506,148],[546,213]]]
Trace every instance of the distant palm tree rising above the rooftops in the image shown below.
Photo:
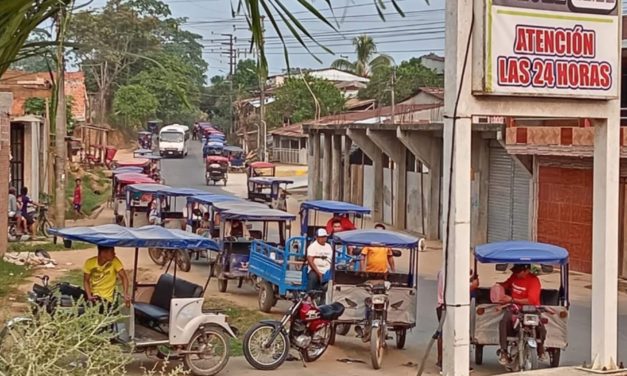
[[[357,60],[350,62],[346,59],[337,59],[331,67],[352,72],[361,77],[368,77],[377,67],[389,66],[392,58],[388,55],[379,54],[377,56],[377,46],[372,37],[368,35],[360,35],[353,38],[353,46],[357,53]]]

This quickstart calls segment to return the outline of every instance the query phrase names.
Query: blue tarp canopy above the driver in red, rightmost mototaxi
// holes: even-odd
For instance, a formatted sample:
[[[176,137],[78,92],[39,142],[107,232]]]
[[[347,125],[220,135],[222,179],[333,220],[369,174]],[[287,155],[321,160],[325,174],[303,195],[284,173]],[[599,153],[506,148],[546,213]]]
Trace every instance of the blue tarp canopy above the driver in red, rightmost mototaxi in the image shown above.
[[[568,251],[551,244],[512,240],[478,245],[475,258],[494,264],[567,264]]]

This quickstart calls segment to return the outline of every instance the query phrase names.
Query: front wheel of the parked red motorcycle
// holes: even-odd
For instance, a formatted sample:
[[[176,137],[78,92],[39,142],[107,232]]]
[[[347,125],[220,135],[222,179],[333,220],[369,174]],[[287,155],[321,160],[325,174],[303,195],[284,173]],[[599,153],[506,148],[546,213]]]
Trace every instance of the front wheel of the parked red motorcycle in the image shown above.
[[[278,322],[276,325],[280,325]],[[276,333],[272,343],[270,338]],[[287,334],[267,322],[253,325],[244,336],[244,357],[248,364],[262,371],[271,371],[279,368],[290,351],[290,340]]]

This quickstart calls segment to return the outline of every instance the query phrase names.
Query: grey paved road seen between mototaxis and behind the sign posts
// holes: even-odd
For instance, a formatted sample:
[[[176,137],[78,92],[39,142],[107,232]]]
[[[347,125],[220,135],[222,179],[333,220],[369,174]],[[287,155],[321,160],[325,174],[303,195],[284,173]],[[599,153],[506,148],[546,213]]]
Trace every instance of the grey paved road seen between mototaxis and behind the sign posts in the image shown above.
[[[240,197],[244,197],[246,193],[244,174],[231,174],[226,187],[207,187],[205,185],[201,145],[196,141],[192,141],[189,155],[186,158],[163,160],[162,168],[168,185],[194,187],[215,193],[236,194]],[[433,267],[431,267],[432,269]],[[578,278],[586,279],[587,277],[571,276],[573,281],[576,281]],[[590,359],[590,290],[583,287],[578,287],[578,289],[576,294],[574,294],[576,297],[572,299],[569,322],[570,344],[567,351],[563,354],[563,365],[580,365],[583,361],[589,362]],[[247,292],[247,295],[248,300],[250,300],[255,294],[250,291]],[[425,345],[428,343],[437,325],[434,312],[435,297],[436,284],[433,276],[421,278],[418,293],[418,325],[408,338],[408,349],[403,352],[406,357],[409,357],[414,362],[417,362],[422,357],[422,351],[424,351]],[[619,315],[618,333],[619,361],[627,361],[627,298],[624,294],[621,294],[619,306],[621,312]],[[286,306],[284,303],[279,303],[277,308],[284,309]],[[365,350],[365,347],[363,350]],[[503,371],[496,361],[494,350],[493,348],[485,350],[484,366],[476,367],[477,374],[498,374]],[[366,356],[366,354],[363,355]],[[433,358],[431,358],[431,361],[433,361]]]

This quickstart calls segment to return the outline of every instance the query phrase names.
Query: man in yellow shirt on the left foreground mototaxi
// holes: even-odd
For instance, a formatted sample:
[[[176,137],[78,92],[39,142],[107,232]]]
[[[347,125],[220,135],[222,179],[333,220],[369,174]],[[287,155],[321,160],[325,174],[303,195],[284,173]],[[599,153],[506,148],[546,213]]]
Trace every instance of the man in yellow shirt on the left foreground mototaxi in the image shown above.
[[[117,278],[122,282],[122,293],[127,306],[131,303],[128,276],[113,247],[98,246],[98,256],[85,261],[83,266],[83,288],[87,300],[102,300],[113,303]]]

